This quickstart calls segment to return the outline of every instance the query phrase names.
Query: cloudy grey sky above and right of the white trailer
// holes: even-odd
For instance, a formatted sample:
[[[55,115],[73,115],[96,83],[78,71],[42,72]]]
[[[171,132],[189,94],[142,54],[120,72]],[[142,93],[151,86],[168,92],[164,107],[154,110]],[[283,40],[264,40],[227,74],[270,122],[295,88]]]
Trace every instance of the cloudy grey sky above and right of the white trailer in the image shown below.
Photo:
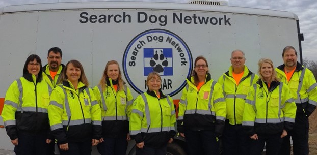
[[[0,8],[9,5],[78,2],[80,0],[0,0]],[[89,0],[86,0],[89,1]],[[86,2],[85,1],[85,2]],[[94,0],[98,1],[98,0]],[[100,1],[100,0],[99,0]],[[115,0],[113,0],[115,1]],[[142,1],[142,0],[129,0]],[[143,0],[144,1],[144,0]],[[148,0],[151,1],[151,0]],[[188,3],[188,0],[152,0],[156,2]],[[227,0],[229,6],[260,8],[289,11],[299,17],[300,31],[304,34],[302,41],[303,59],[317,61],[317,1],[316,0]]]

